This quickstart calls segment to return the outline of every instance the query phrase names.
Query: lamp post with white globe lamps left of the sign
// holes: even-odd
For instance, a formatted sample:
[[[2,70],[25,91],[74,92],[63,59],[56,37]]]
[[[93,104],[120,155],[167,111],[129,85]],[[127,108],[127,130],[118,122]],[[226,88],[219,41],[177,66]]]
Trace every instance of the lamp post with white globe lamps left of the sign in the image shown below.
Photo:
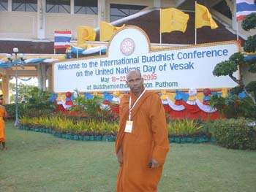
[[[14,126],[18,126],[19,124],[19,117],[18,117],[18,64],[22,69],[24,69],[24,55],[20,53],[18,58],[18,47],[13,48],[13,53],[15,54],[15,58],[12,58],[12,54],[7,54],[7,58],[10,62],[10,67],[12,68],[12,65],[15,65],[15,124]],[[15,59],[15,60],[14,60]]]

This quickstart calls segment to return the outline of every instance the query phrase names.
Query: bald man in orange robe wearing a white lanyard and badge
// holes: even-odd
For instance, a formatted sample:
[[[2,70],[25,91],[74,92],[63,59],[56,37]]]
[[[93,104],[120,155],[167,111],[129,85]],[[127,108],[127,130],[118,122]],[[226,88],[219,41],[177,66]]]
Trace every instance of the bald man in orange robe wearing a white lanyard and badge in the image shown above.
[[[165,110],[157,93],[146,91],[139,70],[127,73],[130,93],[120,104],[116,155],[117,192],[157,192],[169,150]]]

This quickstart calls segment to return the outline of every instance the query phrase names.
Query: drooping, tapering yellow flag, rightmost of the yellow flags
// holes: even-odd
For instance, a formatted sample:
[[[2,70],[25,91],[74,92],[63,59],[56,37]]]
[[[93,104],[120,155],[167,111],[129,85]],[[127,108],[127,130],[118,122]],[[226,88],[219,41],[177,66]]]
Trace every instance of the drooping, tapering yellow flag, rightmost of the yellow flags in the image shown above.
[[[211,29],[217,28],[217,24],[211,17],[211,13],[201,4],[195,4],[195,28],[211,26]]]

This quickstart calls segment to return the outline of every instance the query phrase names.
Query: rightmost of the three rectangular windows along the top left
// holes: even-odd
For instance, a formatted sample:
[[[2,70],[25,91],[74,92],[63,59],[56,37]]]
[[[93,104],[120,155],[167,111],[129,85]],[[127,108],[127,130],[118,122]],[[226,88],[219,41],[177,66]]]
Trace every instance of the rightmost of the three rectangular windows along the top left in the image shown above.
[[[97,0],[75,0],[75,14],[98,14],[98,3]]]

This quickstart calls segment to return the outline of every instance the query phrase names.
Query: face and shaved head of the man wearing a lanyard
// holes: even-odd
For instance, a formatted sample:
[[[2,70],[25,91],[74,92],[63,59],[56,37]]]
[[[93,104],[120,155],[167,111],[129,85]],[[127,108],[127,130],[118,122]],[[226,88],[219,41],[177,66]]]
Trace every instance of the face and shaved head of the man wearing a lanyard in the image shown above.
[[[127,86],[130,88],[132,93],[136,96],[140,96],[143,88],[143,78],[141,78],[140,72],[130,71],[127,74]]]

